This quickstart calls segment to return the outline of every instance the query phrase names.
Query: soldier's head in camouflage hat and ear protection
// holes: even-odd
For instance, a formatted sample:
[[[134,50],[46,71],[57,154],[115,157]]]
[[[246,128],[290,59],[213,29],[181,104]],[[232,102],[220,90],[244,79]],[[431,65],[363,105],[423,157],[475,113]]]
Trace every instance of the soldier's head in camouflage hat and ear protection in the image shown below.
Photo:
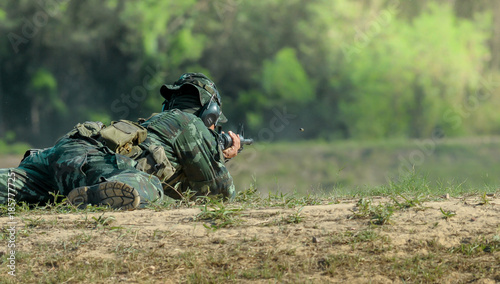
[[[199,116],[207,127],[225,123],[217,86],[202,73],[185,73],[173,85],[163,85],[163,110],[180,109]]]

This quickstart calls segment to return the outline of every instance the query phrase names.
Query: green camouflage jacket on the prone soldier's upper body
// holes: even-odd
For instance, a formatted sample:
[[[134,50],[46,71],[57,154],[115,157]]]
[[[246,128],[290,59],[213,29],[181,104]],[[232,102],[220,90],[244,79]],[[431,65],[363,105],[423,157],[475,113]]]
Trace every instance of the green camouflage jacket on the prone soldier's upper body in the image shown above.
[[[224,164],[218,134],[200,118],[173,109],[141,125],[147,128],[148,135],[139,145],[143,153],[135,159],[137,167],[159,177],[166,195],[179,198],[191,189],[197,195],[234,196],[233,179]]]

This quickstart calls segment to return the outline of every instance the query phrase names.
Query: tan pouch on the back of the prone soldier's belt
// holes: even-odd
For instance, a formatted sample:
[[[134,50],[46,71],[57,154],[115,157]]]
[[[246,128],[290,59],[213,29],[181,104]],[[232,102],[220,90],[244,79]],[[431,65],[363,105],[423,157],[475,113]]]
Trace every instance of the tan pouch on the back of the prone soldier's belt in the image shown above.
[[[133,146],[142,143],[147,136],[146,128],[138,123],[119,120],[100,131],[101,142],[117,154],[128,155],[132,153]]]

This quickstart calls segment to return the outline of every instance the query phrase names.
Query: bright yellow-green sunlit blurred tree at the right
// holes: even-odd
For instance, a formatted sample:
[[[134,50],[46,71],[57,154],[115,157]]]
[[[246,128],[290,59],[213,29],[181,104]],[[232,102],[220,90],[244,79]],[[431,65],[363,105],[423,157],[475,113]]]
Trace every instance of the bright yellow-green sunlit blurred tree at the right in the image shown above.
[[[341,115],[350,134],[422,138],[436,128],[465,133],[464,124],[445,114],[479,83],[488,56],[487,25],[487,18],[457,20],[449,5],[437,4],[411,23],[387,25],[345,74],[352,90],[342,98]]]

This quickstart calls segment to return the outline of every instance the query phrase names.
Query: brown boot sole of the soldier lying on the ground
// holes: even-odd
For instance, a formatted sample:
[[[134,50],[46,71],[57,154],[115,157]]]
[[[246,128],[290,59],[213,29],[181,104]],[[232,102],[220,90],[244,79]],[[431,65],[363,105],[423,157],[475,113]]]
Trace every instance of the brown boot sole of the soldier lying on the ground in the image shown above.
[[[123,182],[108,181],[73,189],[67,196],[69,203],[85,208],[87,204],[108,205],[111,208],[134,210],[141,198],[137,190]]]

